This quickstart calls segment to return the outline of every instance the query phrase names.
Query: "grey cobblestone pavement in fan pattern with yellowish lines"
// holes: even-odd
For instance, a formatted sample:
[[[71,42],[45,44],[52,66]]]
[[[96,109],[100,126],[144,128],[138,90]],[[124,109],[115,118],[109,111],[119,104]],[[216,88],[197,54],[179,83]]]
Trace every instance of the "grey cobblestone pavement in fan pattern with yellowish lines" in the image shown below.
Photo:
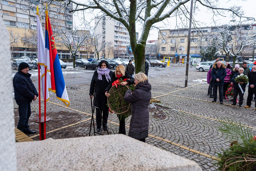
[[[184,67],[184,66],[181,66]],[[224,100],[221,105],[213,103],[208,98],[208,84],[202,82],[206,79],[207,72],[195,70],[189,71],[188,86],[184,88],[185,71],[170,72],[149,77],[152,84],[152,97],[161,100],[160,109],[164,118],[156,118],[153,115],[159,110],[150,112],[149,137],[146,143],[173,152],[179,156],[194,160],[202,170],[216,170],[216,157],[222,148],[228,148],[230,142],[218,131],[220,122],[217,119],[229,117],[232,120],[241,121],[244,125],[252,127],[254,133],[255,110],[246,109],[247,91],[244,95],[243,107],[231,106],[231,101]],[[51,112],[72,113],[75,117],[74,123],[68,121],[61,123],[59,127],[47,127],[47,137],[66,138],[65,131],[71,131],[74,136],[88,136],[91,118],[91,105],[89,99],[90,84],[69,86],[68,95],[70,106],[65,107],[63,103],[50,93],[50,100],[47,102],[49,117]],[[254,102],[252,102],[254,106]],[[14,103],[17,112],[17,104]],[[32,103],[32,111],[38,111],[38,105]],[[37,112],[32,113],[30,125],[35,125],[32,119],[38,117]],[[61,117],[67,117],[61,114]],[[18,116],[15,116],[16,126]],[[50,121],[51,122],[51,121]],[[61,122],[61,121],[60,121]],[[126,132],[129,131],[130,119],[126,121]],[[118,118],[115,114],[109,114],[108,128],[110,134],[118,133]],[[63,127],[66,125],[67,127]],[[69,126],[68,126],[69,125]],[[62,128],[61,128],[62,127]],[[38,130],[37,130],[38,132]],[[106,134],[106,131],[102,131]],[[59,135],[59,136],[58,136]],[[76,135],[76,136],[75,136]],[[97,135],[97,134],[96,134]],[[97,135],[98,136],[98,135]],[[34,140],[38,135],[30,136]]]

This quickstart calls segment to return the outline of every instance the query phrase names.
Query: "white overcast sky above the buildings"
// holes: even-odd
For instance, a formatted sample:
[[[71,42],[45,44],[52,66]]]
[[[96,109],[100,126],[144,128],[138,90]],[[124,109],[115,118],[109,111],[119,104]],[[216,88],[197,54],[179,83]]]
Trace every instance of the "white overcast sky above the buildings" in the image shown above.
[[[233,5],[241,6],[244,13],[245,13],[245,16],[256,18],[256,15],[255,15],[255,12],[256,12],[255,0],[245,0],[245,1],[232,0],[230,2],[228,2],[228,0],[220,0],[219,3],[220,3],[220,7],[222,7],[222,8],[228,8],[228,7],[233,6]],[[186,5],[187,6],[189,5],[189,8],[190,8],[190,2],[187,3]],[[201,27],[214,26],[215,23],[213,22],[213,19],[212,19],[213,14],[210,13],[209,11],[207,11],[207,8],[202,6],[202,5],[198,5],[198,7],[199,8],[194,9],[194,12],[193,12],[193,17],[195,18],[195,20],[200,22],[198,24]],[[226,16],[227,17],[214,16],[214,19],[216,20],[217,25],[237,24],[237,22],[231,22],[230,21],[230,20],[232,20],[232,18],[230,18],[230,13],[229,14],[227,13]],[[79,17],[81,17],[81,15],[78,15],[78,16],[74,17],[74,23],[76,24],[76,26],[79,26],[81,24],[81,19]],[[93,16],[91,16],[91,17],[93,17]],[[239,19],[237,18],[236,20],[239,20]],[[176,17],[168,18],[168,19],[164,20],[163,22],[165,23],[165,25],[163,25],[163,23],[157,23],[156,26],[160,27],[161,29],[174,29],[175,27],[177,28],[177,26],[176,26]],[[179,27],[184,27],[180,23],[181,23],[181,21],[177,20],[177,25]],[[183,23],[186,23],[186,21],[183,21]],[[139,38],[141,36],[141,30],[142,30],[142,27],[139,24],[137,24],[136,25],[136,31],[139,33]],[[150,35],[148,36],[148,40],[156,40],[157,37],[158,37],[158,30],[152,28],[151,31],[150,31]]]

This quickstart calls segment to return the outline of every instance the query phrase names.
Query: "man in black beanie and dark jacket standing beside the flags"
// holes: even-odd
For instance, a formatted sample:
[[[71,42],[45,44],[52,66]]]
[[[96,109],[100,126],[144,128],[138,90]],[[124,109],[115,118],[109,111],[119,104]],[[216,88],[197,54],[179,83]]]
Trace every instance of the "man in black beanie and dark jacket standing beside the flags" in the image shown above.
[[[19,106],[19,122],[17,128],[24,132],[33,134],[36,131],[30,130],[28,120],[31,115],[30,103],[38,97],[37,90],[28,73],[29,66],[26,62],[19,64],[19,71],[13,77],[14,99]]]

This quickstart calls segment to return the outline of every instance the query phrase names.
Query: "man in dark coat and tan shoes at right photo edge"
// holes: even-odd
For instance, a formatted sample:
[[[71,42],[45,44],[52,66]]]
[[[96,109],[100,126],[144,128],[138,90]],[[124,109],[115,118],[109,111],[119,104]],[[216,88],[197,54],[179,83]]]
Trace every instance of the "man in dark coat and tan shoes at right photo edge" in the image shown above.
[[[252,67],[252,72],[249,73],[249,87],[248,87],[248,97],[245,108],[250,108],[252,104],[252,95],[256,97],[256,65]],[[255,103],[256,109],[256,103]]]

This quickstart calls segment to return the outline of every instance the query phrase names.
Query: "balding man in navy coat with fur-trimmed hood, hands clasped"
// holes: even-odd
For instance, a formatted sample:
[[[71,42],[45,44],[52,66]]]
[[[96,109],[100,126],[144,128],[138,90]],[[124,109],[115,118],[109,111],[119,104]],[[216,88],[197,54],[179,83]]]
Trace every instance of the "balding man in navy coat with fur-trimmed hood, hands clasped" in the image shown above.
[[[213,93],[214,99],[212,102],[217,101],[217,89],[219,89],[219,100],[220,104],[223,104],[223,85],[224,85],[224,78],[227,75],[225,65],[218,61],[213,64],[213,69],[211,71],[211,77],[213,79]]]

